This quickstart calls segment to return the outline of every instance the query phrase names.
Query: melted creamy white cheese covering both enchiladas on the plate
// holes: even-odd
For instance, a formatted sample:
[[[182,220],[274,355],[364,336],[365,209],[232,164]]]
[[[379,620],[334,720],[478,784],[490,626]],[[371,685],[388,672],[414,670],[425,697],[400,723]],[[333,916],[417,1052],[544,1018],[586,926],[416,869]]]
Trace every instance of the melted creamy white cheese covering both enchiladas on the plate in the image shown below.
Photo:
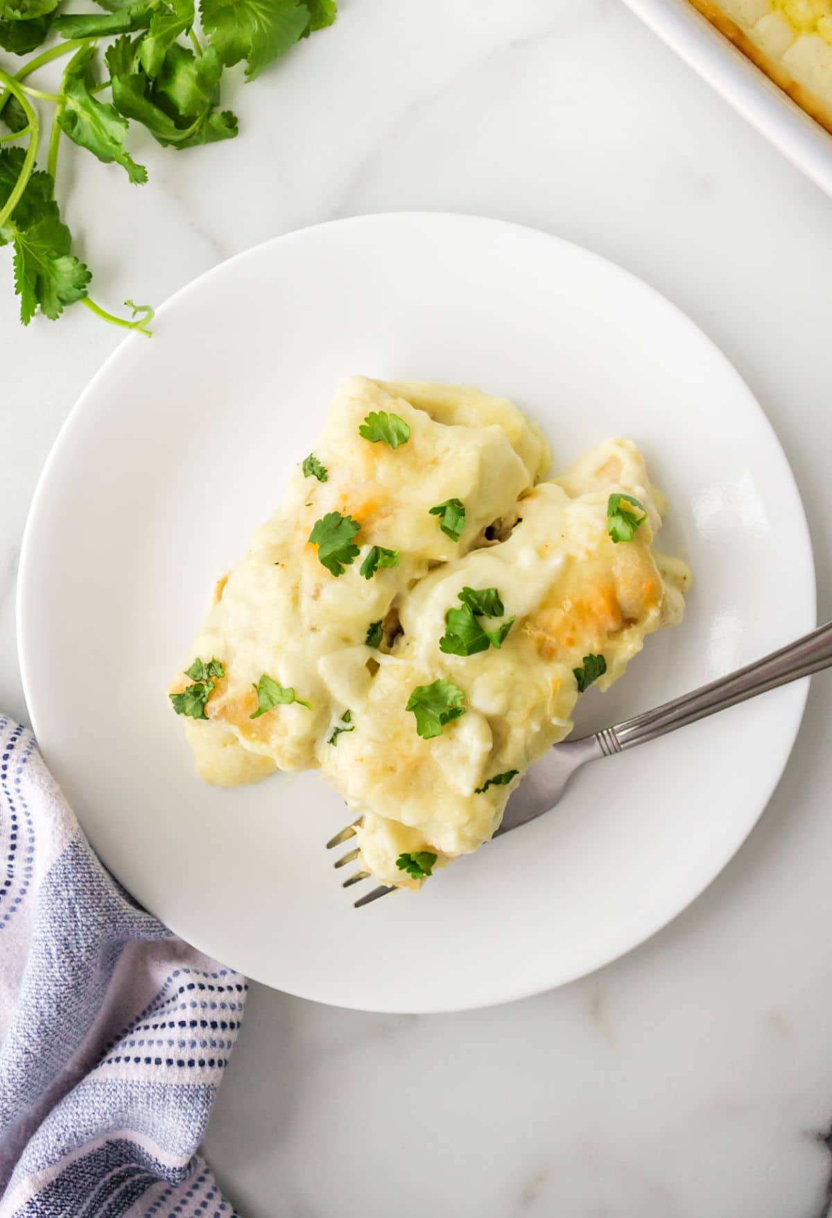
[[[380,409],[409,425],[407,443],[391,449],[359,436],[364,417]],[[186,734],[210,782],[320,766],[363,817],[367,870],[419,887],[396,866],[402,851],[429,850],[443,866],[486,842],[519,777],[478,788],[509,770],[521,776],[568,734],[583,657],[604,657],[598,686],[607,688],[648,633],[681,619],[689,574],[653,553],[664,502],[632,443],[608,441],[538,482],[548,464],[540,431],[510,402],[474,389],[354,378],[314,452],[328,481],[298,469],[283,507],[217,586],[189,663],[216,655],[225,677],[208,719],[186,720]],[[614,491],[647,510],[629,543],[607,531]],[[465,504],[458,543],[429,510],[448,498]],[[361,523],[362,555],[339,577],[307,541],[328,512]],[[358,568],[373,544],[398,551],[400,565],[365,580]],[[440,649],[464,587],[498,590],[503,618],[514,618],[501,648]],[[365,646],[376,621],[387,626],[380,649]],[[313,709],[295,703],[252,719],[252,686],[264,672]],[[440,677],[463,691],[465,713],[423,739],[407,702]],[[352,731],[333,745],[346,710]]]

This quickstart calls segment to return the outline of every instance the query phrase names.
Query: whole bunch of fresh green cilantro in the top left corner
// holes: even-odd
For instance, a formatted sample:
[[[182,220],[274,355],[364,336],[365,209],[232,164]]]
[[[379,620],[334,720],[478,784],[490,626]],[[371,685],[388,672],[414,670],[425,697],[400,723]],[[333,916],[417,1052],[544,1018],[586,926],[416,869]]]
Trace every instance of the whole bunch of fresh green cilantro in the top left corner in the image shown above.
[[[24,325],[38,312],[55,320],[67,306],[82,302],[105,322],[150,335],[149,306],[125,301],[132,315],[118,317],[89,296],[93,276],[72,252],[72,235],[55,200],[61,138],[99,161],[116,162],[130,183],[141,185],[147,174],[128,147],[132,123],[144,125],[158,144],[180,150],[233,139],[236,117],[219,108],[225,67],[246,60],[246,76],[253,79],[296,41],[330,26],[336,2],[202,0],[207,45],[196,30],[195,0],[99,4],[107,11],[58,13],[61,0],[0,0],[4,51],[29,55],[51,32],[65,39],[21,67],[0,57],[0,118],[9,130],[0,145],[16,145],[0,152],[0,245],[13,251]],[[102,48],[104,78],[96,68],[96,44],[113,38]],[[24,84],[33,72],[71,54],[57,93]],[[106,89],[110,100],[101,96]],[[55,107],[45,171],[37,167],[41,104]]]

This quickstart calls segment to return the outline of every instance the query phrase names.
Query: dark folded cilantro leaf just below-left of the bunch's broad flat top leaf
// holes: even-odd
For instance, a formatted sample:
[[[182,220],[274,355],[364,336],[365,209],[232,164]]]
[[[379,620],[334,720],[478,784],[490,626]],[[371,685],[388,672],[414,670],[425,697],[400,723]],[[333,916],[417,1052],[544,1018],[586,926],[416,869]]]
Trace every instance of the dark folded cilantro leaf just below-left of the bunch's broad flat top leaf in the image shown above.
[[[155,78],[136,63],[138,44],[119,39],[105,56],[112,77],[116,110],[147,128],[163,146],[177,149],[213,144],[238,134],[236,116],[216,111],[223,65],[208,46],[197,58],[173,43]]]

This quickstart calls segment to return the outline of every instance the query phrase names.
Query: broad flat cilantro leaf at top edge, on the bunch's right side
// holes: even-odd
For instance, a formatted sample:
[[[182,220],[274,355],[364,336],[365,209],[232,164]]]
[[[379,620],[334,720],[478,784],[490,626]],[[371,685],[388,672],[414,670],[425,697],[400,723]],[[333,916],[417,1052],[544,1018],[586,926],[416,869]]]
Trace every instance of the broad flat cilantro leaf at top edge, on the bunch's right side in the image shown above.
[[[200,16],[227,67],[247,61],[249,80],[311,29],[309,9],[297,0],[200,0]]]

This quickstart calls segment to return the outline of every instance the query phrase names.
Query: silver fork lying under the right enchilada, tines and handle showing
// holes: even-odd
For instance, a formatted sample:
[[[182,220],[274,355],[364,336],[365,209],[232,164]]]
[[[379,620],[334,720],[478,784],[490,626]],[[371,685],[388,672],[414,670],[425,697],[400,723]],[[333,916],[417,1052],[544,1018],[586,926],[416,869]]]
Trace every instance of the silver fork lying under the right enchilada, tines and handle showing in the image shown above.
[[[719,677],[710,685],[700,686],[692,693],[682,694],[681,698],[675,698],[672,702],[665,702],[655,710],[644,711],[643,715],[627,719],[622,723],[616,723],[615,727],[604,727],[594,736],[583,736],[577,741],[555,744],[540,761],[531,766],[523,782],[510,795],[495,838],[502,837],[503,833],[510,833],[520,825],[526,825],[542,816],[543,812],[551,811],[560,801],[571,776],[587,761],[597,761],[601,758],[613,756],[614,753],[632,749],[636,744],[646,744],[668,732],[675,732],[677,727],[696,723],[698,719],[714,715],[717,710],[735,706],[738,702],[755,698],[759,693],[766,693],[766,691],[776,689],[777,686],[787,685],[789,681],[820,672],[821,669],[831,665],[832,622],[826,622],[825,626],[819,626],[817,630],[804,635],[803,638],[789,643],[788,647],[782,647],[778,652],[772,652],[771,655],[755,660],[754,664],[748,664],[744,669]],[[341,845],[354,837],[361,821],[359,816],[352,825],[347,825],[340,833],[336,833],[326,843],[326,849],[331,850],[333,847]],[[350,850],[336,861],[335,866],[344,867],[358,859],[359,855],[359,849]],[[369,871],[358,871],[345,879],[344,887],[351,888],[352,884],[369,878]],[[389,888],[383,884],[357,900],[354,907],[361,909],[369,905],[370,901],[376,901],[379,896],[386,896],[387,893],[396,890],[395,887]]]

